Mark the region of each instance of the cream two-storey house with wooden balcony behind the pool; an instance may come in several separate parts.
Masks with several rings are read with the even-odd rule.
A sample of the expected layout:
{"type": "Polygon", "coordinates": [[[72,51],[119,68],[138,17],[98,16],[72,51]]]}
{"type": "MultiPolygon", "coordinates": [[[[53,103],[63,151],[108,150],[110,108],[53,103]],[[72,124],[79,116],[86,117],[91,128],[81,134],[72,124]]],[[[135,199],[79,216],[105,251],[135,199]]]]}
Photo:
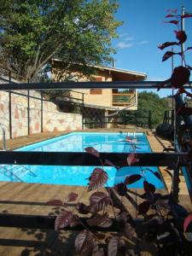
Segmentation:
{"type": "MultiPolygon", "coordinates": [[[[66,72],[62,72],[62,61],[52,60],[52,79],[61,81],[66,72]]],[[[71,79],[78,81],[143,81],[147,78],[146,73],[119,69],[116,67],[94,67],[95,73],[89,78],[79,75],[79,72],[73,72],[71,79]]],[[[108,123],[115,121],[115,114],[120,110],[137,110],[137,90],[122,89],[79,89],[84,94],[84,123],[99,124],[106,127],[108,123]]],[[[71,95],[75,98],[75,94],[71,95]]],[[[91,125],[86,125],[90,128],[91,125]]]]}

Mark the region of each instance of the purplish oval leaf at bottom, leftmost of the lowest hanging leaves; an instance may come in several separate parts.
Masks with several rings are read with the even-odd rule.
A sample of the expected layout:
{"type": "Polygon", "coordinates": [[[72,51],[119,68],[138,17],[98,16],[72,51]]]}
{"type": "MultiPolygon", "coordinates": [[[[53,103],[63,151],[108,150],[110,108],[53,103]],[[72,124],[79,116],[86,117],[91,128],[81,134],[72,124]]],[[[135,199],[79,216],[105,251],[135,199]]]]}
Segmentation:
{"type": "Polygon", "coordinates": [[[81,231],[75,238],[75,248],[78,254],[90,253],[93,247],[94,240],[89,230],[81,231]]]}

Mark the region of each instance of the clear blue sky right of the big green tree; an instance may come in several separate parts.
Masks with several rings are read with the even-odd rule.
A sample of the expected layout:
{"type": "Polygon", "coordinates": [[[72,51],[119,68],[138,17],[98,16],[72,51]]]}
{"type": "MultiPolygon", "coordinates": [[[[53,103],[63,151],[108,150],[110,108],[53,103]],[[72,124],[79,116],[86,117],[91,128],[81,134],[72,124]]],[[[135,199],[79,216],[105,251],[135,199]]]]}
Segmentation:
{"type": "MultiPolygon", "coordinates": [[[[160,50],[158,45],[165,42],[177,41],[174,30],[177,26],[164,21],[174,20],[165,18],[168,9],[177,9],[181,14],[182,6],[185,11],[192,13],[192,0],[119,0],[116,19],[124,22],[119,26],[119,38],[113,39],[116,49],[116,67],[147,73],[148,81],[169,79],[172,75],[172,60],[162,62],[162,56],[167,50],[160,50]]],[[[192,18],[184,19],[184,28],[188,36],[185,49],[192,46],[192,18]]],[[[174,47],[174,51],[179,48],[174,47]]],[[[192,66],[192,50],[186,55],[187,64],[192,66]]],[[[181,58],[176,55],[174,67],[181,65],[181,58]]],[[[156,92],[156,90],[153,90],[156,92]]],[[[172,90],[160,90],[160,96],[171,95],[172,90]]]]}

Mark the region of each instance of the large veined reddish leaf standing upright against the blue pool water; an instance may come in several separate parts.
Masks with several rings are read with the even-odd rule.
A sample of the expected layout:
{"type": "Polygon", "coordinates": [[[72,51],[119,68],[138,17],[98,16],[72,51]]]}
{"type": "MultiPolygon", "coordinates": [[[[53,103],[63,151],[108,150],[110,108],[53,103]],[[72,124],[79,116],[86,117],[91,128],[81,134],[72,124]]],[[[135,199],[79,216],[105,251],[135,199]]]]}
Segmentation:
{"type": "Polygon", "coordinates": [[[89,178],[88,191],[101,188],[108,181],[108,173],[101,168],[95,168],[89,178]]]}

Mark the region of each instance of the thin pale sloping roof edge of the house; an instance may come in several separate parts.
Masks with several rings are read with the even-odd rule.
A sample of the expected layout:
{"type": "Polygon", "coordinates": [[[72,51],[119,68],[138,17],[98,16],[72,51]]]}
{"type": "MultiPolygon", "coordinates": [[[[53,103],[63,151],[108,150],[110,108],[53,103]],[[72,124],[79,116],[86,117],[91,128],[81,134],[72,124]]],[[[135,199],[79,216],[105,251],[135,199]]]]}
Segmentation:
{"type": "MultiPolygon", "coordinates": [[[[52,59],[53,61],[61,61],[59,59],[52,59]]],[[[101,69],[101,70],[108,70],[113,73],[122,73],[125,75],[133,75],[137,77],[141,77],[142,79],[147,79],[147,74],[146,73],[141,73],[137,71],[132,71],[132,70],[127,70],[127,69],[122,69],[122,68],[117,68],[117,67],[105,67],[105,66],[93,66],[95,68],[101,69]]]]}

